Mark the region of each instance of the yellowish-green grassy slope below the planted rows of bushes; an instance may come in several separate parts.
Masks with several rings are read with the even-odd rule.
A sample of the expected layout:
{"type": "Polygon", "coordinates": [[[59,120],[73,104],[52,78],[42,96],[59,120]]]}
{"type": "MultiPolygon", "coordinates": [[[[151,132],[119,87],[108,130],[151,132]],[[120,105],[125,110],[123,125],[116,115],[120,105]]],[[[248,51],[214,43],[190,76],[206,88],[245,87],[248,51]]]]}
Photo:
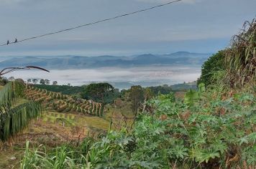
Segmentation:
{"type": "Polygon", "coordinates": [[[88,136],[96,138],[108,128],[109,121],[101,117],[44,111],[38,120],[32,121],[26,130],[12,140],[12,146],[4,145],[0,152],[0,168],[19,168],[27,140],[51,149],[64,143],[78,143],[78,140],[88,136]]]}

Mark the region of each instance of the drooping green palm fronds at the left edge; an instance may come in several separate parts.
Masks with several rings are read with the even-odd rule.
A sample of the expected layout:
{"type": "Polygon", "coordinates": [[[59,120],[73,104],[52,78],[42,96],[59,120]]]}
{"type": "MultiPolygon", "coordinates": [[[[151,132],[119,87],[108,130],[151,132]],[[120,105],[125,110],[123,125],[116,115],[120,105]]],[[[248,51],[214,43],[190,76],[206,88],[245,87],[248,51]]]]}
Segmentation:
{"type": "Polygon", "coordinates": [[[17,135],[30,120],[40,115],[41,108],[35,102],[17,103],[23,97],[24,84],[13,81],[0,90],[0,140],[5,142],[17,135]]]}

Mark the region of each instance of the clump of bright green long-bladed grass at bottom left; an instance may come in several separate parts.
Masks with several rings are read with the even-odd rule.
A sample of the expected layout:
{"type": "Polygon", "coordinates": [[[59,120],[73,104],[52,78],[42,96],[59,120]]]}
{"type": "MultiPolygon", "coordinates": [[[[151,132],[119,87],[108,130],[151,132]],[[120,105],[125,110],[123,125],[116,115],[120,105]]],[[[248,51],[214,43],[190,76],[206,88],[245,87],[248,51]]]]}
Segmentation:
{"type": "Polygon", "coordinates": [[[47,150],[44,145],[29,148],[29,142],[27,142],[20,168],[86,168],[90,165],[86,156],[88,156],[91,145],[93,145],[93,139],[86,138],[79,146],[67,144],[47,150]]]}

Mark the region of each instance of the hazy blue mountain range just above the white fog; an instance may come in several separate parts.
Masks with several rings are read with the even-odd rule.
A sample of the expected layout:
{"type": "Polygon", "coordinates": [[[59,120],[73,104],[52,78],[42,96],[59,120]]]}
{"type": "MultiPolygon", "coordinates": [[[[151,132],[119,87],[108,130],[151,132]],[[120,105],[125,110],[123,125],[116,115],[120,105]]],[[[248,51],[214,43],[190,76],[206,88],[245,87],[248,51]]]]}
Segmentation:
{"type": "Polygon", "coordinates": [[[58,57],[2,57],[0,68],[33,65],[47,69],[88,69],[99,67],[142,67],[150,65],[198,65],[211,54],[176,52],[173,54],[141,54],[131,57],[58,56],[58,57]]]}

